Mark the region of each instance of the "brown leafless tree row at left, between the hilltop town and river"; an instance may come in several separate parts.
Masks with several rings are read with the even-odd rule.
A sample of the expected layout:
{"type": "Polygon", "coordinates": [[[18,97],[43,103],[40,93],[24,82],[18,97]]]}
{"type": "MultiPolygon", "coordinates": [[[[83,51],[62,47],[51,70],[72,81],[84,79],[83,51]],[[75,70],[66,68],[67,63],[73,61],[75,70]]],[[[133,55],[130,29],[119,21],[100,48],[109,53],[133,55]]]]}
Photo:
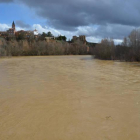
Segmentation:
{"type": "Polygon", "coordinates": [[[0,56],[38,55],[86,55],[87,46],[82,43],[65,41],[46,42],[45,40],[11,40],[0,38],[0,56]]]}

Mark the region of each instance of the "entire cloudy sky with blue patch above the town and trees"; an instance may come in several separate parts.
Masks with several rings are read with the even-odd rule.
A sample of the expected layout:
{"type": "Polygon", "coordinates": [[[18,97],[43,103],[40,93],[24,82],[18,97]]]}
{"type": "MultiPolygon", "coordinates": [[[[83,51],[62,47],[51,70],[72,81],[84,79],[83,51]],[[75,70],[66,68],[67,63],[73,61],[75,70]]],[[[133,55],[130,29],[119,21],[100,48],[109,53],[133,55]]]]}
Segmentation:
{"type": "Polygon", "coordinates": [[[140,0],[0,0],[0,30],[51,31],[55,36],[86,35],[120,42],[140,26],[140,0]]]}

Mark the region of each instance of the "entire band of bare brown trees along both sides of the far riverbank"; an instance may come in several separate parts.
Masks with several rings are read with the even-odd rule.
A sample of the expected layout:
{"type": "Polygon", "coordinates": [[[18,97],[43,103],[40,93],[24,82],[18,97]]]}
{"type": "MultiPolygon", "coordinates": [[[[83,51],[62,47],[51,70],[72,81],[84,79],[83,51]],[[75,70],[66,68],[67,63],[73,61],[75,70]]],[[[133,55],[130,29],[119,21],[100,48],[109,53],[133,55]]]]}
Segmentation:
{"type": "Polygon", "coordinates": [[[42,33],[38,39],[27,39],[23,34],[16,36],[16,39],[0,38],[0,56],[92,54],[103,60],[140,61],[140,29],[134,29],[120,45],[115,45],[110,38],[102,39],[96,45],[85,45],[82,42],[67,42],[66,37],[61,35],[54,42],[46,42],[46,37],[53,37],[51,32],[42,33]],[[90,45],[93,47],[89,47],[90,45]]]}

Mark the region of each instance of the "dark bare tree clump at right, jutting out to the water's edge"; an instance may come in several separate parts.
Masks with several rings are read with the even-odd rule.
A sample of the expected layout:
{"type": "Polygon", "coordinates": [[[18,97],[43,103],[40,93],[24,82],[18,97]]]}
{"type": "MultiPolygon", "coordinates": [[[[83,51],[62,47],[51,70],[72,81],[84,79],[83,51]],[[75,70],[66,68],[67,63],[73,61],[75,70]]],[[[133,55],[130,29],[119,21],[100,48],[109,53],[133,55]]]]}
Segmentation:
{"type": "Polygon", "coordinates": [[[102,39],[92,54],[103,60],[140,61],[140,29],[134,29],[122,44],[115,45],[113,39],[102,39]]]}

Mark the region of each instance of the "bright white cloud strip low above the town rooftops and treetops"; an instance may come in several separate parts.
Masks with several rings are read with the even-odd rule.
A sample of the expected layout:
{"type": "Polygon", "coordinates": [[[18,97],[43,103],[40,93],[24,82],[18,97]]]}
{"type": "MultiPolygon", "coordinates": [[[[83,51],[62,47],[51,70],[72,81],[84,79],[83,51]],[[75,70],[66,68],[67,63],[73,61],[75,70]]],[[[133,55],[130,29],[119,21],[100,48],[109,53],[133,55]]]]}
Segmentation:
{"type": "MultiPolygon", "coordinates": [[[[6,31],[9,28],[11,28],[11,26],[7,25],[7,24],[0,24],[0,31],[6,31]]],[[[29,30],[29,28],[22,28],[19,27],[18,25],[16,25],[16,30],[29,30]]],[[[32,26],[30,26],[30,30],[34,30],[37,29],[38,32],[41,34],[42,32],[49,32],[51,31],[51,33],[54,36],[58,36],[58,35],[65,35],[67,37],[67,40],[71,39],[74,35],[86,35],[86,40],[89,42],[95,42],[95,43],[99,43],[102,39],[102,34],[100,36],[96,36],[96,32],[98,32],[100,30],[100,28],[98,29],[98,27],[79,27],[77,29],[77,31],[64,31],[64,30],[56,30],[55,28],[51,28],[48,26],[41,26],[40,24],[34,24],[32,26]]],[[[122,42],[121,39],[114,39],[116,44],[120,44],[122,42]]]]}

